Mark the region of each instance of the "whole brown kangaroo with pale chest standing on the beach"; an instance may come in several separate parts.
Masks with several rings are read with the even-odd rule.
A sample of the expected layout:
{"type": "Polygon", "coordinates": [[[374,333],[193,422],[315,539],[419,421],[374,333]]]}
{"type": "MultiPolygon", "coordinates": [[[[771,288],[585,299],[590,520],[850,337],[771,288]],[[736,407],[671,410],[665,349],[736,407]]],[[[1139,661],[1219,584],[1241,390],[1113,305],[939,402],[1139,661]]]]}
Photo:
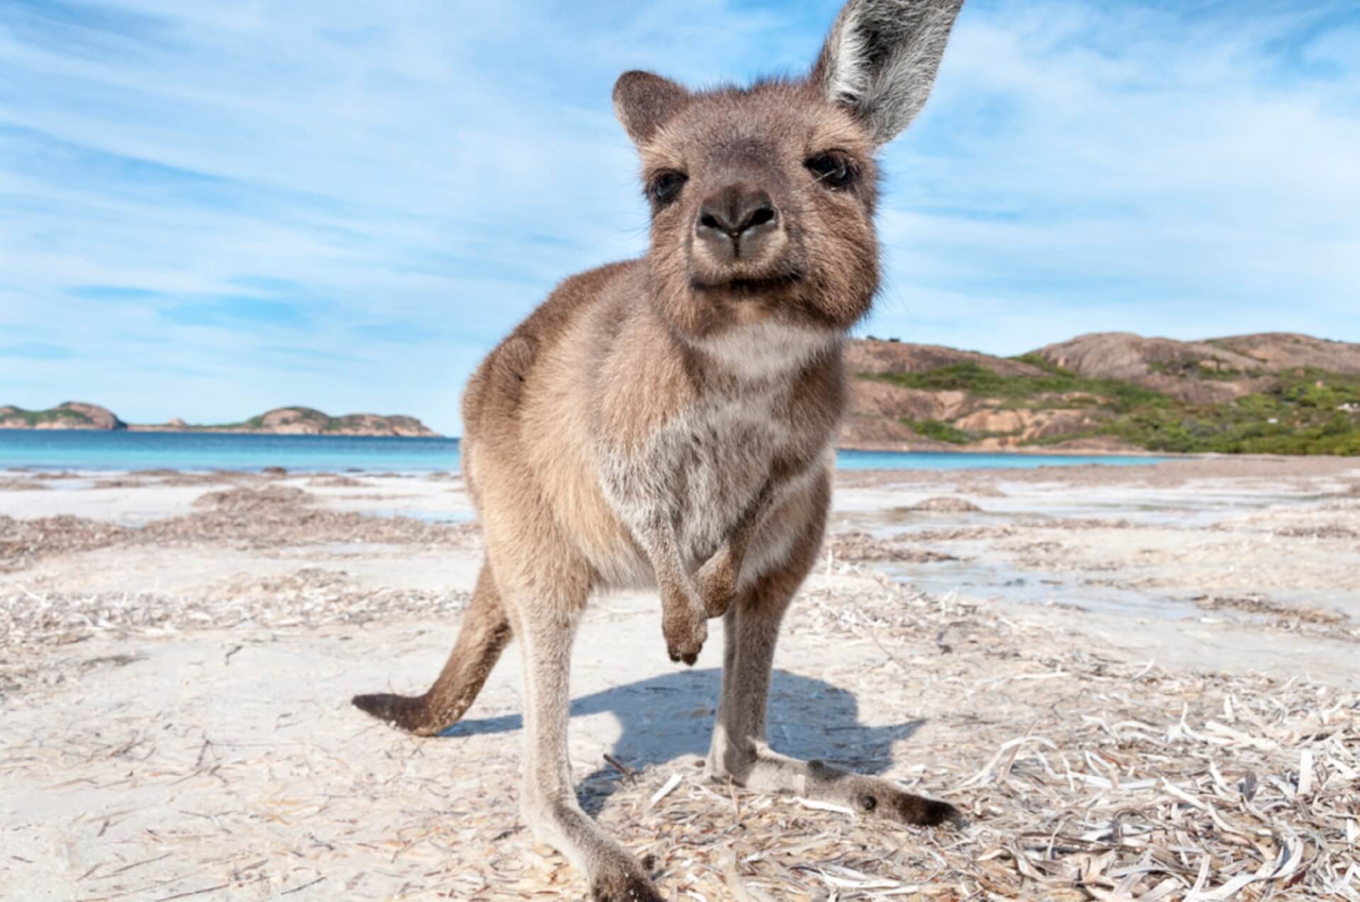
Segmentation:
{"type": "Polygon", "coordinates": [[[724,618],[706,773],[913,825],[959,812],[766,743],[779,624],[821,545],[842,346],[879,288],[876,149],[926,102],[963,0],[850,0],[811,73],[613,88],[651,208],[647,254],[562,283],[462,401],[486,560],[423,696],[354,704],[416,735],[457,721],[509,644],[524,656],[521,808],[598,902],[660,902],[577,801],[571,647],[597,591],[656,587],[673,660],[724,618]]]}

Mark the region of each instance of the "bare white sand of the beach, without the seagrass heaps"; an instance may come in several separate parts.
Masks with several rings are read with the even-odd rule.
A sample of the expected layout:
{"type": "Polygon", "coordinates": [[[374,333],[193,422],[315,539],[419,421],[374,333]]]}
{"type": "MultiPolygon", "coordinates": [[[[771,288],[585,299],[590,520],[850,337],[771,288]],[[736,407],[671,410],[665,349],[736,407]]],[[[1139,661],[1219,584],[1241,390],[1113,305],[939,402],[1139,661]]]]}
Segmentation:
{"type": "MultiPolygon", "coordinates": [[[[1360,689],[1360,632],[1346,617],[1360,617],[1360,494],[1350,493],[1360,463],[1297,467],[1273,481],[1234,475],[1231,467],[1175,485],[1149,473],[843,480],[836,530],[923,534],[917,547],[967,557],[896,572],[932,591],[953,590],[956,599],[975,603],[964,610],[985,615],[926,625],[919,614],[915,632],[908,617],[896,632],[838,626],[828,638],[827,624],[839,622],[828,617],[851,622],[858,607],[888,598],[864,569],[832,561],[809,579],[808,599],[781,644],[771,742],[945,793],[985,763],[991,747],[983,740],[1021,735],[1061,705],[1080,704],[1085,690],[1062,679],[1061,664],[1055,679],[1015,682],[1015,674],[1053,670],[1044,662],[1064,655],[1096,655],[1110,667],[1138,670],[1155,659],[1170,675],[1265,671],[1315,681],[1319,693],[1360,689]],[[952,494],[982,512],[900,509],[952,494]],[[947,538],[959,527],[1012,531],[947,538]],[[1008,592],[1004,581],[1013,579],[1025,583],[1008,592]],[[1083,592],[1102,590],[1146,605],[1134,615],[1119,607],[1119,595],[1088,605],[1092,610],[1070,606],[1083,592]],[[1046,600],[1046,591],[1059,603],[1024,603],[1046,600]],[[1200,595],[1253,595],[1285,613],[1201,610],[1190,600],[1200,595]],[[1337,613],[1321,619],[1291,613],[1300,607],[1337,613]],[[1032,638],[1015,645],[1006,636],[1032,638]],[[945,645],[955,651],[941,656],[945,645]],[[993,647],[1012,651],[989,652],[993,647]]],[[[471,511],[460,482],[359,478],[367,485],[317,488],[307,477],[275,485],[306,488],[320,507],[336,511],[453,522],[471,511]]],[[[190,512],[212,488],[3,492],[0,512],[141,524],[190,512]]],[[[0,596],[11,606],[42,599],[79,606],[82,596],[128,596],[135,605],[139,592],[162,603],[243,598],[268,605],[272,583],[260,588],[260,581],[299,571],[313,576],[277,592],[466,590],[476,565],[475,547],[403,542],[120,545],[0,573],[0,596]],[[330,575],[333,585],[317,583],[316,572],[330,575]]],[[[443,663],[456,617],[431,621],[398,611],[363,625],[316,622],[322,625],[181,624],[173,632],[162,625],[148,634],[101,626],[95,615],[88,628],[72,628],[69,638],[78,641],[7,648],[7,670],[0,670],[0,887],[7,888],[0,895],[577,898],[578,878],[558,856],[536,849],[517,818],[517,648],[450,736],[420,740],[366,719],[348,698],[385,687],[422,690],[443,663]]],[[[626,781],[604,755],[661,776],[692,773],[715,701],[721,628],[713,633],[688,670],[666,660],[657,605],[647,595],[600,599],[582,629],[573,765],[586,799],[602,806],[601,818],[632,825],[631,844],[651,842],[649,830],[661,827],[649,827],[630,807],[630,792],[619,787],[626,781]]],[[[1174,721],[1178,712],[1161,713],[1174,721]]],[[[643,789],[636,793],[649,795],[643,789]]],[[[835,823],[828,829],[860,829],[835,823]]],[[[699,868],[690,878],[668,873],[662,883],[699,891],[707,879],[699,868]]],[[[870,895],[846,891],[842,898],[870,895]]]]}

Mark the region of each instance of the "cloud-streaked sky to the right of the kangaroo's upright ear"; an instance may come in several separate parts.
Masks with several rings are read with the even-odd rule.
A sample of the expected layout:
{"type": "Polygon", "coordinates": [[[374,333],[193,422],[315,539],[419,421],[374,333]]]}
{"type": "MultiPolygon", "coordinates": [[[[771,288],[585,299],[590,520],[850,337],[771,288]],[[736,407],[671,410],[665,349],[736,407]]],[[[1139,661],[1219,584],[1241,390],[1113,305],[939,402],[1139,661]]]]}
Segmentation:
{"type": "Polygon", "coordinates": [[[1006,352],[1111,329],[1360,338],[1360,56],[1334,46],[1353,7],[970,11],[887,155],[876,327],[1006,352]]]}

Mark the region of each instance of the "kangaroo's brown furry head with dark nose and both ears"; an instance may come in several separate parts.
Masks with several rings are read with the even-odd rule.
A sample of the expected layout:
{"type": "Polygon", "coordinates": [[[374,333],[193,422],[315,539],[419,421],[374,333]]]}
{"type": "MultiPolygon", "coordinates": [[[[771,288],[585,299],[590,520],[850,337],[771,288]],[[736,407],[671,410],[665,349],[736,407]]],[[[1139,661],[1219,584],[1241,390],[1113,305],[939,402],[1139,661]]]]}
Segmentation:
{"type": "Polygon", "coordinates": [[[619,79],[651,205],[654,300],[677,334],[703,344],[767,323],[834,337],[868,312],[874,151],[925,105],[962,4],[850,0],[801,80],[619,79]]]}

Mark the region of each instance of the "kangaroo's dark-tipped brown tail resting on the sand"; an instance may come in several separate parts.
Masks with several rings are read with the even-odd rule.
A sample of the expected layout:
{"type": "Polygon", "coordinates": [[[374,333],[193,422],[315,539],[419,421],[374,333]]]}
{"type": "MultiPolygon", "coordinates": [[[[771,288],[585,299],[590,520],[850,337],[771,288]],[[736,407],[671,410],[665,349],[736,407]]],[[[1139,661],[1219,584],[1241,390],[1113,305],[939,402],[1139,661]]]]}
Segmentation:
{"type": "Polygon", "coordinates": [[[491,566],[483,564],[458,640],[434,686],[423,696],[355,696],[354,705],[418,736],[443,732],[472,706],[510,636],[510,619],[491,566]]]}

